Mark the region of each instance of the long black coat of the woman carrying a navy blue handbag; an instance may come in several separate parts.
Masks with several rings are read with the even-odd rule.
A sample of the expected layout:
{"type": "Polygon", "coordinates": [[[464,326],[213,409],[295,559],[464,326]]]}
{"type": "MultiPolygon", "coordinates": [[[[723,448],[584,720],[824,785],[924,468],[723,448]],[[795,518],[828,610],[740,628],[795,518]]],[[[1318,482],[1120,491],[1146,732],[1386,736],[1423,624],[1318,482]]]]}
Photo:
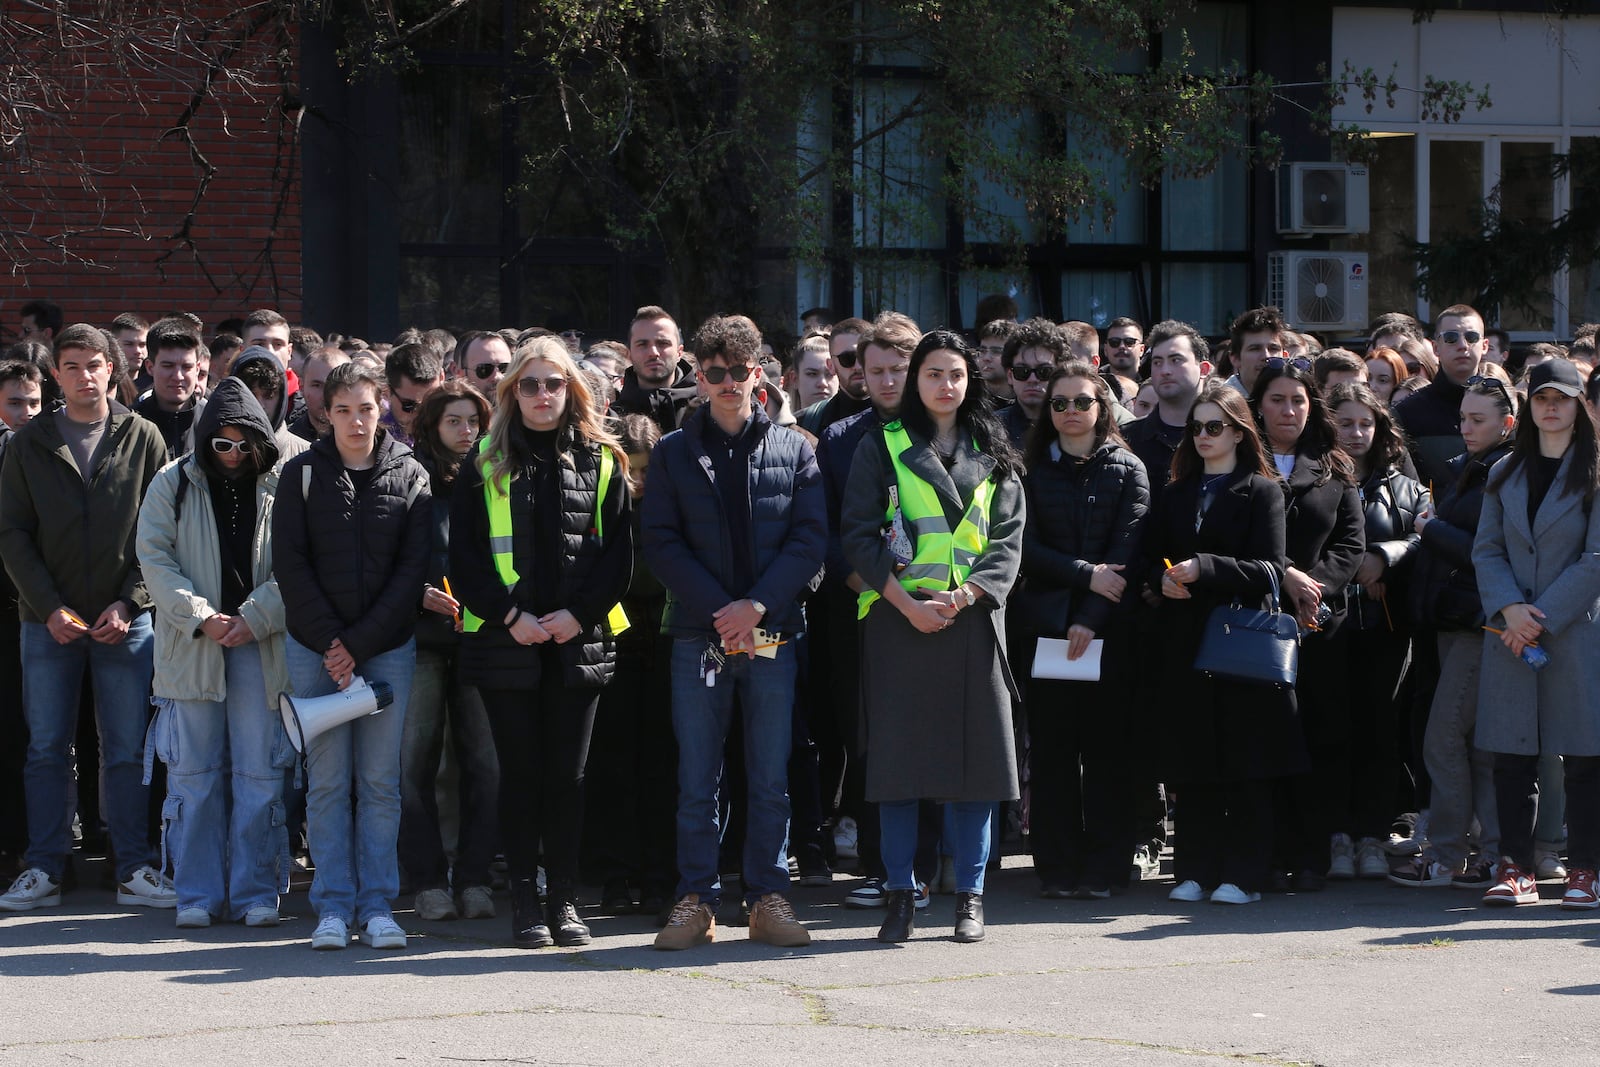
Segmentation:
{"type": "Polygon", "coordinates": [[[1309,768],[1294,691],[1210,678],[1194,669],[1205,621],[1238,600],[1272,595],[1269,571],[1283,576],[1283,488],[1277,478],[1235,470],[1200,528],[1200,480],[1170,482],[1146,530],[1146,581],[1162,589],[1163,560],[1195,560],[1189,600],[1162,597],[1155,609],[1155,733],[1165,781],[1226,782],[1285,777],[1309,768]]]}

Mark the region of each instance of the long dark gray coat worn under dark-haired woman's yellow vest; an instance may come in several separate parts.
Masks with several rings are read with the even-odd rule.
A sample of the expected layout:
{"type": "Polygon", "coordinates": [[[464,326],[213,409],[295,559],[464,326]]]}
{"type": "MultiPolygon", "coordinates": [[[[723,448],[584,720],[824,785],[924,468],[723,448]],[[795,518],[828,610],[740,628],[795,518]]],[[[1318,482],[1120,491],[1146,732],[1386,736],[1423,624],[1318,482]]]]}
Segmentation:
{"type": "MultiPolygon", "coordinates": [[[[939,494],[950,528],[995,461],[965,445],[947,472],[928,442],[912,437],[906,466],[939,494]]],[[[845,488],[840,541],[869,589],[883,589],[893,561],[880,530],[894,469],[874,427],[856,450],[845,488]]],[[[1018,478],[995,485],[989,547],[968,581],[989,595],[955,624],[922,633],[888,601],[862,622],[861,694],[867,731],[867,800],[1014,800],[1018,790],[1005,656],[1005,603],[1022,560],[1026,504],[1018,478]]]]}

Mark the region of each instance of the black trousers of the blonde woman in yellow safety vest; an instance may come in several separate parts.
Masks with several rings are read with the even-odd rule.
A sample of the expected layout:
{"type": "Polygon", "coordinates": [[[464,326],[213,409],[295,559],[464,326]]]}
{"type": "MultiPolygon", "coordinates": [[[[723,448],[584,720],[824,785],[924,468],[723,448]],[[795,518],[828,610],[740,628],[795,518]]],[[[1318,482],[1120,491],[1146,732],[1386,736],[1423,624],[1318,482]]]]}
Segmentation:
{"type": "Polygon", "coordinates": [[[533,878],[544,841],[550,899],[574,899],[584,825],[584,768],[600,689],[568,688],[560,651],[541,649],[536,691],[483,689],[501,761],[501,838],[510,877],[533,878]]]}

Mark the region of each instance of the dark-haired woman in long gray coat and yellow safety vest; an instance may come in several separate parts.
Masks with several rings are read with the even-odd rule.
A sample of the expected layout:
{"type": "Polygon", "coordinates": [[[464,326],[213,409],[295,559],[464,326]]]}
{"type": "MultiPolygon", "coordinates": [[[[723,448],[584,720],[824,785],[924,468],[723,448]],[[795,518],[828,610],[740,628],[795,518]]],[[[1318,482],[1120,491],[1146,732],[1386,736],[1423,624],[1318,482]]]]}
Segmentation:
{"type": "Polygon", "coordinates": [[[901,421],[869,432],[845,488],[840,539],[861,595],[867,800],[880,806],[888,915],[906,941],[917,801],[955,814],[955,939],[984,936],[989,811],[1018,797],[1005,598],[1022,552],[1021,462],[955,333],[917,344],[901,421]]]}

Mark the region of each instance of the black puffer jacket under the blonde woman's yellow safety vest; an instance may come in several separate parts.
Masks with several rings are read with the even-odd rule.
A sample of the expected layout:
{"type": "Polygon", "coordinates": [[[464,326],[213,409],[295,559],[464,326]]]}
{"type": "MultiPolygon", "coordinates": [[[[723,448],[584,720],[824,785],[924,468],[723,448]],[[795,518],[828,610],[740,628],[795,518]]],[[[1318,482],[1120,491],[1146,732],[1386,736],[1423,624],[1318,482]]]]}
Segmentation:
{"type": "MultiPolygon", "coordinates": [[[[490,517],[483,496],[483,470],[477,456],[464,462],[456,475],[456,494],[450,512],[450,573],[456,595],[483,619],[482,629],[462,635],[461,677],[485,689],[533,689],[542,673],[541,646],[518,645],[506,625],[512,608],[534,616],[565,608],[573,613],[582,635],[560,646],[565,683],[598,688],[611,680],[616,664],[616,641],[606,624],[606,613],[627,592],[634,569],[632,498],[621,466],[614,467],[606,488],[602,541],[595,528],[595,490],[600,483],[600,448],[563,442],[555,459],[555,482],[560,485],[562,558],[554,582],[555,601],[539,603],[538,565],[534,561],[534,525],[539,507],[534,501],[538,477],[528,466],[520,432],[514,429],[514,448],[523,459],[522,470],[510,482],[512,565],[517,585],[507,590],[494,569],[490,552],[490,517]]],[[[546,512],[552,514],[552,512],[546,512]]]]}

